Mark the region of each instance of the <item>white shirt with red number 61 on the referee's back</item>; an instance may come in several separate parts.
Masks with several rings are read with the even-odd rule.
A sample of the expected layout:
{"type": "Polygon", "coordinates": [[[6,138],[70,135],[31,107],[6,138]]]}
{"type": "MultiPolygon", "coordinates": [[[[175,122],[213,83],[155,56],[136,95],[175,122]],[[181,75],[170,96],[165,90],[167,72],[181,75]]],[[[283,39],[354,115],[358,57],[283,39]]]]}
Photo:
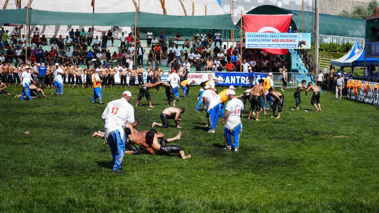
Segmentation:
{"type": "Polygon", "coordinates": [[[225,127],[233,130],[238,124],[241,123],[241,111],[243,110],[243,103],[236,97],[226,104],[226,110],[229,111],[229,116],[225,122],[225,127]]]}

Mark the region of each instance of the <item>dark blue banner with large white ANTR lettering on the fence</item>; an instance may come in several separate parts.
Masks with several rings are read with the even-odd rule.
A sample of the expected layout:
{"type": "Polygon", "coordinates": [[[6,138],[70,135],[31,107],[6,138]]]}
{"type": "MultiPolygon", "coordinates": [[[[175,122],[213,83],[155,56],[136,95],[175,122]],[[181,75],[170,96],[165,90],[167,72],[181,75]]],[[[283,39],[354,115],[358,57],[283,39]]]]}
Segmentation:
{"type": "MultiPolygon", "coordinates": [[[[259,80],[265,78],[267,73],[255,72],[255,81],[252,83],[256,85],[259,80]]],[[[247,72],[215,72],[217,78],[216,85],[218,86],[249,86],[249,73],[247,72]]]]}

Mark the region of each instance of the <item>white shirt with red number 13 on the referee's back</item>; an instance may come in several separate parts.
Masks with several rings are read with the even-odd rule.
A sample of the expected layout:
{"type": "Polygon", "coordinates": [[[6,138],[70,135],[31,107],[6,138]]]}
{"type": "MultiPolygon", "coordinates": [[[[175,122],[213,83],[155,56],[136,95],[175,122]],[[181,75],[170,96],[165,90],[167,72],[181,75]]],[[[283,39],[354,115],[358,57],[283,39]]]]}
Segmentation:
{"type": "Polygon", "coordinates": [[[102,118],[105,119],[105,135],[117,130],[124,129],[125,125],[133,124],[134,108],[125,99],[113,100],[106,105],[102,118]]]}

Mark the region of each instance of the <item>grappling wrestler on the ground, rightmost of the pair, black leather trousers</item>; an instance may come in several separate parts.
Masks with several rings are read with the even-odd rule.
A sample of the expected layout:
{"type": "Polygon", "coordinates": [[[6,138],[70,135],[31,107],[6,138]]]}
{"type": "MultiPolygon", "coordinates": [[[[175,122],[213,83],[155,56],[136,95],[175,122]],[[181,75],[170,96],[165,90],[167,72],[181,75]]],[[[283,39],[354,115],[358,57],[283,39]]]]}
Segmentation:
{"type": "Polygon", "coordinates": [[[182,133],[179,131],[179,134],[175,136],[175,138],[165,139],[162,133],[152,129],[146,133],[146,143],[149,145],[149,148],[153,150],[155,155],[171,155],[171,153],[179,153],[182,159],[191,158],[191,155],[185,155],[183,147],[167,145],[174,140],[179,140],[181,135],[182,133]],[[158,139],[160,139],[160,143],[158,143],[158,139]]]}

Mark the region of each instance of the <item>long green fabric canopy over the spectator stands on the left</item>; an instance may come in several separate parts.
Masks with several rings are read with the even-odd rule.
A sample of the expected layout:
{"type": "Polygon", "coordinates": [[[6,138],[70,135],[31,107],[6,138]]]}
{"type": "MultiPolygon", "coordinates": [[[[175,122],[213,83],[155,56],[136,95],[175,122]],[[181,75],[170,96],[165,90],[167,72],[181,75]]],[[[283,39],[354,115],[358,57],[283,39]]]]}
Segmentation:
{"type": "MultiPolygon", "coordinates": [[[[0,10],[2,23],[26,23],[27,9],[0,10]]],[[[30,25],[88,25],[132,27],[135,24],[135,12],[127,13],[69,13],[29,9],[30,25]],[[122,17],[122,18],[121,18],[122,17]]],[[[167,35],[180,32],[182,36],[191,36],[195,30],[201,34],[220,30],[222,37],[229,37],[230,30],[236,29],[230,14],[217,16],[169,16],[137,12],[137,27],[142,32],[151,28],[160,34],[166,28],[167,35]],[[195,29],[195,30],[194,30],[195,29]]]]}

